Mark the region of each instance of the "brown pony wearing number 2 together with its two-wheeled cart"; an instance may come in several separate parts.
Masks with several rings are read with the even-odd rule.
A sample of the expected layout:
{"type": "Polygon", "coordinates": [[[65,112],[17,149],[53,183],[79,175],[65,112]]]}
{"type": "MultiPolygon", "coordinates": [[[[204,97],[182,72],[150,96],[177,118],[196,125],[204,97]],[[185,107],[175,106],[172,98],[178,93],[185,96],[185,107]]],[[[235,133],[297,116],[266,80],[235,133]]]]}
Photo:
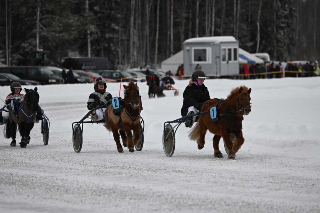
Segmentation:
{"type": "Polygon", "coordinates": [[[80,121],[72,123],[72,143],[75,152],[80,152],[83,142],[83,124],[103,124],[107,130],[112,131],[119,153],[124,152],[120,144],[120,135],[124,147],[130,152],[141,151],[144,142],[144,121],[140,116],[142,110],[139,87],[134,82],[124,85],[124,99],[114,97],[106,104],[90,110],[80,121]],[[92,112],[100,108],[105,110],[104,118],[99,121],[90,119],[92,112]]]}

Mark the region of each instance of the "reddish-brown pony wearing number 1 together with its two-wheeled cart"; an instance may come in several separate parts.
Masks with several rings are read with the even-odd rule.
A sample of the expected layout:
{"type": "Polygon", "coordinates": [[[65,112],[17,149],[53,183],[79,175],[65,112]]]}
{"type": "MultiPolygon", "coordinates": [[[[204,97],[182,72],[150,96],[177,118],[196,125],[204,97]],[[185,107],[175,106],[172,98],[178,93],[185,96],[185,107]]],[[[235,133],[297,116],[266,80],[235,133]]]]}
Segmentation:
{"type": "Polygon", "coordinates": [[[196,116],[194,127],[188,136],[190,140],[197,141],[198,149],[204,148],[204,137],[209,130],[214,134],[214,157],[223,157],[219,150],[219,141],[222,137],[228,158],[235,158],[236,152],[244,143],[242,120],[243,116],[251,111],[250,92],[251,88],[237,87],[231,91],[227,99],[214,98],[204,102],[196,114],[164,122],[162,145],[165,155],[170,157],[174,153],[175,133],[178,127],[187,119],[196,116]],[[172,123],[176,125],[172,126],[172,123]]]}

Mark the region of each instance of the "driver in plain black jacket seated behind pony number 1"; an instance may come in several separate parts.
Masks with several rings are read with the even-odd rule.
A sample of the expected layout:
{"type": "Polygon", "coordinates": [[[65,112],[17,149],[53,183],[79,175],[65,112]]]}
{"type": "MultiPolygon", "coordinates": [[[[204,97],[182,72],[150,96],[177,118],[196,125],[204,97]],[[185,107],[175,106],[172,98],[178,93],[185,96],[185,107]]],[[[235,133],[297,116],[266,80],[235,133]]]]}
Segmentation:
{"type": "MultiPolygon", "coordinates": [[[[202,70],[196,70],[192,73],[192,79],[183,92],[182,117],[198,113],[201,110],[202,104],[210,99],[208,88],[203,84],[206,78],[202,70]]],[[[195,120],[196,116],[187,118],[185,122],[186,127],[192,127],[195,120]]]]}

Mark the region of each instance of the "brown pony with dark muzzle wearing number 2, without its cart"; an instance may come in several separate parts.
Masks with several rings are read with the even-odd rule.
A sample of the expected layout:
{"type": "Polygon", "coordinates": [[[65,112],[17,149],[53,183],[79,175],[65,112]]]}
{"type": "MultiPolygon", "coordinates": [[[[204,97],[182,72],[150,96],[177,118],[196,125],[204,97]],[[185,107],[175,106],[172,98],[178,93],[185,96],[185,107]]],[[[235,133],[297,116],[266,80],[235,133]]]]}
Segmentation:
{"type": "Polygon", "coordinates": [[[139,95],[139,87],[133,81],[129,80],[128,86],[124,87],[124,99],[122,99],[122,111],[113,113],[113,106],[109,105],[105,112],[104,125],[107,130],[112,131],[113,138],[116,141],[118,152],[122,153],[123,148],[120,144],[120,135],[124,147],[128,146],[130,152],[134,152],[134,145],[137,145],[140,139],[140,112],[141,112],[141,96],[139,95]],[[119,132],[118,132],[119,130],[119,132]],[[132,132],[133,130],[133,136],[132,132]],[[120,135],[119,135],[120,133],[120,135]]]}

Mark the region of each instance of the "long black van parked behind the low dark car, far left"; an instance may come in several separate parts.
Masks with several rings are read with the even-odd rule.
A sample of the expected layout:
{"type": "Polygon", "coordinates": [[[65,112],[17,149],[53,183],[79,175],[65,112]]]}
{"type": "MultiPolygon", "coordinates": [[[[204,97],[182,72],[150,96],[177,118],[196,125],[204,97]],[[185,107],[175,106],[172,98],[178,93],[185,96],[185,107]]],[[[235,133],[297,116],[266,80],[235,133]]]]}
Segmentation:
{"type": "Polygon", "coordinates": [[[21,79],[35,80],[40,84],[63,84],[64,80],[56,76],[44,66],[6,66],[0,67],[0,72],[12,73],[21,79]]]}

